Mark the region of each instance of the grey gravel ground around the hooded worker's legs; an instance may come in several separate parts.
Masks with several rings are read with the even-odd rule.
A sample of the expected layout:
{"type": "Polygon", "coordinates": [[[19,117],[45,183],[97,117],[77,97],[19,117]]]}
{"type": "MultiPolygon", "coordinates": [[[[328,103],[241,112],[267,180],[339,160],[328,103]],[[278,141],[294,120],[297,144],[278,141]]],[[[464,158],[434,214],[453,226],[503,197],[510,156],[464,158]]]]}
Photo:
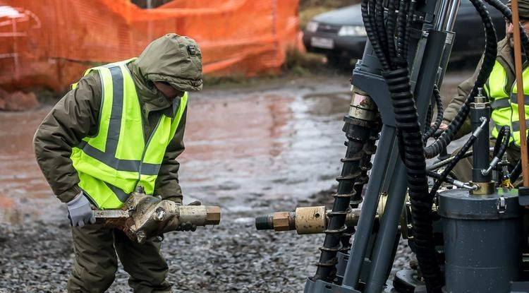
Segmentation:
{"type": "MultiPolygon", "coordinates": [[[[301,292],[323,237],[257,232],[253,217],[235,213],[218,227],[167,234],[162,251],[174,292],[301,292]]],[[[393,272],[409,255],[401,241],[393,272]]],[[[63,292],[72,260],[67,222],[0,225],[0,292],[63,292]]],[[[129,292],[127,278],[120,267],[109,292],[129,292]]]]}

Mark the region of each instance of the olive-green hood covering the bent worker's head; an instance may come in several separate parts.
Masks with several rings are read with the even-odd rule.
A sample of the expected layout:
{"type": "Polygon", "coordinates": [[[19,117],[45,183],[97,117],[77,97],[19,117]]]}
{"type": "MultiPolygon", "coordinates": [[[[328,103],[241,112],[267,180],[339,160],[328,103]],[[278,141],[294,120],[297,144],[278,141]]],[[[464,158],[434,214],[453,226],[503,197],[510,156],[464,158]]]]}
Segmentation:
{"type": "Polygon", "coordinates": [[[165,81],[177,90],[202,90],[202,53],[195,40],[174,33],[151,42],[131,64],[143,102],[155,108],[169,107],[154,81],[165,81]]]}

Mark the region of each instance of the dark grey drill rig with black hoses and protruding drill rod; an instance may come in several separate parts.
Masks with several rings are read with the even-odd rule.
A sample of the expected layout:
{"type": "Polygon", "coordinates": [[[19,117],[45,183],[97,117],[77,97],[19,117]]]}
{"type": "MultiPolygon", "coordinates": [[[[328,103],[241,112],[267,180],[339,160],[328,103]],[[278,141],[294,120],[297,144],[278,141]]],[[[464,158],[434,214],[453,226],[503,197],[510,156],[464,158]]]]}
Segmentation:
{"type": "MultiPolygon", "coordinates": [[[[482,94],[497,56],[487,9],[498,9],[510,21],[514,14],[518,23],[517,11],[511,13],[501,1],[485,0],[486,6],[483,0],[470,0],[485,31],[478,78],[454,121],[427,145],[442,121],[439,88],[460,1],[362,1],[369,40],[352,73],[353,97],[343,126],[347,150],[332,208],[297,208],[256,218],[257,229],[325,234],[305,293],[529,292],[523,261],[527,189],[509,184],[520,172],[509,174],[504,164],[511,141],[508,126],[499,131],[490,160],[491,106],[482,94]],[[438,116],[430,126],[435,105],[438,116]],[[446,152],[469,115],[473,133],[463,148],[437,163],[441,171],[427,168],[425,160],[446,152]],[[470,147],[473,180],[449,178],[470,147]],[[427,177],[434,179],[433,186],[427,177]],[[459,188],[439,191],[446,182],[459,188]],[[418,268],[401,270],[389,282],[401,237],[408,239],[418,268]]],[[[515,46],[529,53],[528,37],[520,30],[521,45],[515,40],[515,46]]],[[[521,132],[525,143],[525,127],[521,132]]],[[[523,147],[522,153],[527,151],[523,147]]]]}

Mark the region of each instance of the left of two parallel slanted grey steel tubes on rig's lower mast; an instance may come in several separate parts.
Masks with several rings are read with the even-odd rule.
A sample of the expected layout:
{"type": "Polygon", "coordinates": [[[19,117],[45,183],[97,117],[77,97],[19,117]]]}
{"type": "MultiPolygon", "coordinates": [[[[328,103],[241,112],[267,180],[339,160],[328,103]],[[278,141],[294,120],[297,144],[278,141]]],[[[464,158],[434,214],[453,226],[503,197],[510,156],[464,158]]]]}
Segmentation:
{"type": "Polygon", "coordinates": [[[382,183],[384,181],[387,164],[392,153],[392,146],[394,144],[396,128],[392,126],[382,126],[380,133],[379,148],[375,161],[373,162],[373,170],[370,181],[367,184],[365,191],[364,202],[362,205],[362,213],[358,219],[358,225],[353,239],[353,246],[349,251],[349,261],[347,263],[346,273],[343,276],[343,285],[349,287],[356,287],[358,285],[358,278],[367,251],[370,234],[375,222],[375,215],[377,214],[377,206],[379,201],[382,183]]]}

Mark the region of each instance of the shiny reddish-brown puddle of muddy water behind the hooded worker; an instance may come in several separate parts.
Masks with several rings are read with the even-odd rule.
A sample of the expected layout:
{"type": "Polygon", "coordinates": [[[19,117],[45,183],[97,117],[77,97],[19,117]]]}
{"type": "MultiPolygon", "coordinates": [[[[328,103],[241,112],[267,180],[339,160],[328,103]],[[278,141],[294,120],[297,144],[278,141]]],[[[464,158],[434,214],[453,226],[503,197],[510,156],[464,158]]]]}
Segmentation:
{"type": "MultiPolygon", "coordinates": [[[[253,201],[306,198],[329,188],[345,151],[349,97],[342,87],[332,95],[286,88],[192,98],[179,157],[184,196],[236,212],[252,209],[253,201]]],[[[48,111],[0,113],[0,222],[66,217],[32,150],[48,111]]]]}

